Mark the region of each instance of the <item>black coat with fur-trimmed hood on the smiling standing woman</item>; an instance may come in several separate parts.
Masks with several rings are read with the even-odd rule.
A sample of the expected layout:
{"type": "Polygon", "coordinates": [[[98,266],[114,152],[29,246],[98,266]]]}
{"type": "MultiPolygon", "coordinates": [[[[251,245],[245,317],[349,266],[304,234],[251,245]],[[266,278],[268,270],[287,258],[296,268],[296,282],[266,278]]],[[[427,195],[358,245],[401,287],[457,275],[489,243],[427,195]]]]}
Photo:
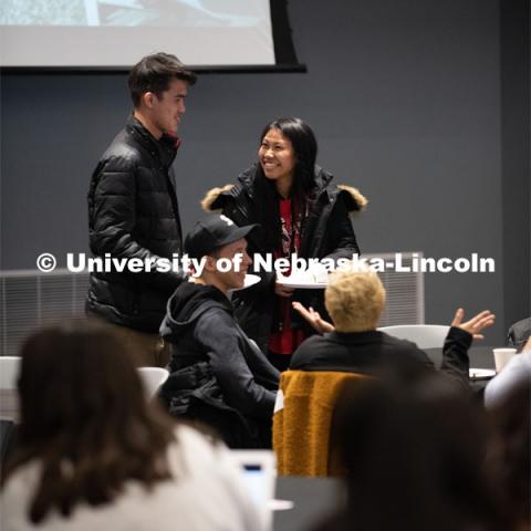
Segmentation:
{"type": "MultiPolygon", "coordinates": [[[[260,176],[258,164],[252,165],[238,177],[236,185],[211,189],[201,206],[207,211],[221,211],[237,225],[260,223],[248,236],[248,252],[252,256],[273,252],[280,246],[280,212],[278,194],[270,181],[260,176]]],[[[299,257],[309,258],[352,258],[360,253],[356,236],[350,215],[362,210],[367,199],[355,188],[335,186],[333,176],[315,166],[315,186],[312,207],[302,226],[299,257]]],[[[263,352],[268,351],[275,315],[274,272],[259,272],[261,282],[235,293],[236,316],[242,329],[263,352]]],[[[311,305],[326,316],[321,290],[296,290],[294,301],[311,305]]],[[[306,333],[312,329],[295,312],[293,326],[302,326],[306,333]]]]}

